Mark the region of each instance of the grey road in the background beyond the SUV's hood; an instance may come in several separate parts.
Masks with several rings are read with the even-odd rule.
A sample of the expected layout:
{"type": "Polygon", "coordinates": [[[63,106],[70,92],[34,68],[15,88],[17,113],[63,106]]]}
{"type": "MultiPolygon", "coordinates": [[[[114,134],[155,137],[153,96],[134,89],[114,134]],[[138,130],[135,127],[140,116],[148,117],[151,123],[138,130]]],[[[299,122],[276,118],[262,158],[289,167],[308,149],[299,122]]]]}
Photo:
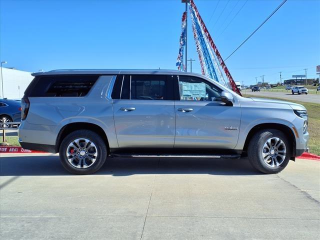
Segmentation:
{"type": "Polygon", "coordinates": [[[246,94],[254,95],[256,97],[269,96],[269,97],[279,97],[287,100],[296,100],[304,102],[315,102],[320,103],[320,93],[319,94],[294,94],[289,92],[276,92],[276,91],[243,91],[246,94]]]}

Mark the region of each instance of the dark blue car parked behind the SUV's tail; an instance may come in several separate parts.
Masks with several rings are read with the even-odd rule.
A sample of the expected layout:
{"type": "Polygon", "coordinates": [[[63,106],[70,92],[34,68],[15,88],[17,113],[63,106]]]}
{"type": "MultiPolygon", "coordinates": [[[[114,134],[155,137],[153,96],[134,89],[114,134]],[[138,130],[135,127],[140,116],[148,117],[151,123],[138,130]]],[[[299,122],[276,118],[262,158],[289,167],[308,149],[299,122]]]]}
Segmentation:
{"type": "Polygon", "coordinates": [[[6,98],[0,99],[0,127],[9,127],[6,122],[21,120],[21,103],[6,98]]]}

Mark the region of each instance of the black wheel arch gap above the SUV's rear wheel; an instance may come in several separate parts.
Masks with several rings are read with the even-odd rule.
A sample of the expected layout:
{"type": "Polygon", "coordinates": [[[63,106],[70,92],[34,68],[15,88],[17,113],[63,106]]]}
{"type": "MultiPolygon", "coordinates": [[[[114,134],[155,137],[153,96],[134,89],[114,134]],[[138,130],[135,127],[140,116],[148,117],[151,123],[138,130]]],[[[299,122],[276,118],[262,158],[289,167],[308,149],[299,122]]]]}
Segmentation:
{"type": "Polygon", "coordinates": [[[105,131],[102,129],[101,126],[94,124],[94,123],[90,123],[90,122],[71,122],[71,123],[64,125],[59,130],[59,133],[57,134],[57,137],[55,140],[55,152],[59,151],[61,141],[63,140],[63,138],[67,134],[69,134],[72,131],[80,130],[80,129],[91,130],[91,131],[94,131],[95,133],[97,133],[98,135],[100,135],[102,137],[102,139],[104,140],[107,149],[109,149],[108,138],[106,136],[105,131]]]}

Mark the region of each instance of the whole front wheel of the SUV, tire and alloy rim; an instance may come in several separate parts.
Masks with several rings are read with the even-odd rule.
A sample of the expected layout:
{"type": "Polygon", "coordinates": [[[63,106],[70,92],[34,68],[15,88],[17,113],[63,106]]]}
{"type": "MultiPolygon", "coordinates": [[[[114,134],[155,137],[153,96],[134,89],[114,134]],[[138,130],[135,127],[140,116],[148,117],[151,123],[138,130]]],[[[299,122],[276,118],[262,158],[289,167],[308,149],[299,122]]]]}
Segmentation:
{"type": "Polygon", "coordinates": [[[278,173],[288,164],[291,154],[283,132],[264,129],[255,133],[248,145],[248,159],[251,165],[264,173],[278,173]]]}

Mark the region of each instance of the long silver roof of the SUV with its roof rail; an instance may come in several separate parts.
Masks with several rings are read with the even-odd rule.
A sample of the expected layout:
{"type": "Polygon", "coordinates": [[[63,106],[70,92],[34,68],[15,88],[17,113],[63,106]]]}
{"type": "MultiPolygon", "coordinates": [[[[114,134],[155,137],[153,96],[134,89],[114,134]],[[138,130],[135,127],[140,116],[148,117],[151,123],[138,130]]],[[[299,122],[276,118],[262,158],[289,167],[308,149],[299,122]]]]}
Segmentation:
{"type": "Polygon", "coordinates": [[[60,75],[60,74],[181,74],[189,73],[169,69],[55,69],[46,72],[34,72],[32,76],[38,75],[60,75]]]}

